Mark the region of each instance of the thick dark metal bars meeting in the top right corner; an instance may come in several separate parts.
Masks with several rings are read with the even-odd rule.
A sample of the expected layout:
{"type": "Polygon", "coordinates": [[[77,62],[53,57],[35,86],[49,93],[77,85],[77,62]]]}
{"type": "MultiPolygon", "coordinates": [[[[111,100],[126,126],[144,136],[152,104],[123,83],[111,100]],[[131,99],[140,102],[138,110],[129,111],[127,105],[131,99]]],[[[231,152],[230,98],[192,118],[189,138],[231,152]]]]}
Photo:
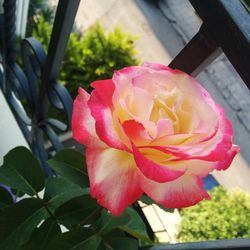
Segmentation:
{"type": "Polygon", "coordinates": [[[170,63],[196,76],[224,52],[250,89],[250,14],[240,1],[190,0],[203,24],[170,63]]]}

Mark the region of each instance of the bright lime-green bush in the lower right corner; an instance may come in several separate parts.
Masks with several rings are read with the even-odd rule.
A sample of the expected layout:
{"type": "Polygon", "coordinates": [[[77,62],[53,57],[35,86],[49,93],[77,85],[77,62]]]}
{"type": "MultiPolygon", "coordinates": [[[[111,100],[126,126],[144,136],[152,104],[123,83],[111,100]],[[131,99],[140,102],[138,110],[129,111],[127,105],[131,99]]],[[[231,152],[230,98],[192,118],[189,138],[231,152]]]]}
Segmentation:
{"type": "Polygon", "coordinates": [[[217,187],[211,197],[181,210],[179,241],[250,237],[250,195],[217,187]]]}

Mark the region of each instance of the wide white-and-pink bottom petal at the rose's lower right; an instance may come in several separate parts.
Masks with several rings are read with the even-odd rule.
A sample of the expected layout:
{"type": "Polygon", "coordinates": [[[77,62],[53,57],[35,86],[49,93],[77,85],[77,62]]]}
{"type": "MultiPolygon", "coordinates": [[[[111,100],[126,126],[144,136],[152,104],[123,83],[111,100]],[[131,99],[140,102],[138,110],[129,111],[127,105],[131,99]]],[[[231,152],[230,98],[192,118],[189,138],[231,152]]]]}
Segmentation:
{"type": "Polygon", "coordinates": [[[203,188],[202,179],[188,174],[166,183],[157,183],[142,176],[141,187],[150,198],[166,208],[188,207],[210,198],[203,188]]]}

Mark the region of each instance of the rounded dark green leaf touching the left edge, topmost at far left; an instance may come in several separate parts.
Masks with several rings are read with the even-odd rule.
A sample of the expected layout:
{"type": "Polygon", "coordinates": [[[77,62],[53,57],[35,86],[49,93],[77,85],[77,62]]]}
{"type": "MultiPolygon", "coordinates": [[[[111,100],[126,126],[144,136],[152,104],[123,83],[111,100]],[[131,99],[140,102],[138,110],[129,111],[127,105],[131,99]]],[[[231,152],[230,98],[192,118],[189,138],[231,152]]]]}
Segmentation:
{"type": "Polygon", "coordinates": [[[25,147],[16,147],[4,157],[0,183],[35,195],[44,188],[45,177],[35,156],[25,147]]]}

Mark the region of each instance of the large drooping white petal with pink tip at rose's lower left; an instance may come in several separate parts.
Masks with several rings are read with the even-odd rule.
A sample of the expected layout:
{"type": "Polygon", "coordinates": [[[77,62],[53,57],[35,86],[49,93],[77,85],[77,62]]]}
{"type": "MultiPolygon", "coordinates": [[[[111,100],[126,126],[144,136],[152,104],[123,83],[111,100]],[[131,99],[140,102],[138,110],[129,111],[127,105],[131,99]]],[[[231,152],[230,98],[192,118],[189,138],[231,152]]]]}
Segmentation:
{"type": "Polygon", "coordinates": [[[132,155],[116,149],[87,149],[90,192],[114,215],[136,201],[142,190],[132,155]]]}

